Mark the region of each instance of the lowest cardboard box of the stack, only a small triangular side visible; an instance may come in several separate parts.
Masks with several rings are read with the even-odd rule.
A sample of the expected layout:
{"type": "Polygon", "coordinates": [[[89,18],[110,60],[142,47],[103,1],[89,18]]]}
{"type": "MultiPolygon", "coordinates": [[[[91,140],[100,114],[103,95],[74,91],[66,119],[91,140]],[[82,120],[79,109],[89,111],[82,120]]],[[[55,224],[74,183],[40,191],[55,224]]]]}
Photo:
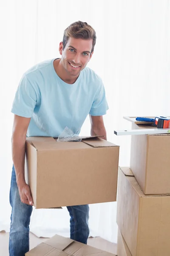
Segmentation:
{"type": "Polygon", "coordinates": [[[129,248],[123,238],[120,230],[118,229],[118,236],[117,236],[117,255],[118,256],[132,256],[130,253],[129,248]]]}

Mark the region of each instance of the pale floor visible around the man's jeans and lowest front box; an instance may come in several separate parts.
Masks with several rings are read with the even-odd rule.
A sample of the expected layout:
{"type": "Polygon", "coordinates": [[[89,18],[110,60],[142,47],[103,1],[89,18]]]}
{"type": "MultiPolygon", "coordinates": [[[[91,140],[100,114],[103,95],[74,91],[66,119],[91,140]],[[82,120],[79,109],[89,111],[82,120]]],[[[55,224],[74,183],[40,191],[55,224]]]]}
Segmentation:
{"type": "MultiPolygon", "coordinates": [[[[9,256],[8,253],[8,239],[9,233],[0,232],[0,256],[9,256]]],[[[30,250],[36,247],[38,244],[47,240],[46,238],[38,238],[34,234],[30,233],[30,250]]],[[[101,250],[108,251],[110,253],[116,254],[117,244],[113,244],[109,241],[106,241],[100,237],[90,237],[88,239],[88,245],[99,248],[101,250]]]]}

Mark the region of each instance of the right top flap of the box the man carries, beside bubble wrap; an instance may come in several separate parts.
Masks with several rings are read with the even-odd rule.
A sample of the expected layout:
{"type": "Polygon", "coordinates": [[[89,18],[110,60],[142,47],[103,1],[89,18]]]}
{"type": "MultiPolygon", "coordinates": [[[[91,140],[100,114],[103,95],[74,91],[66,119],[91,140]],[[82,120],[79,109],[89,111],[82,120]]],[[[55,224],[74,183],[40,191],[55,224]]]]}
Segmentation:
{"type": "Polygon", "coordinates": [[[100,148],[100,147],[118,147],[118,145],[115,145],[107,140],[103,140],[99,137],[90,137],[86,138],[86,140],[82,140],[82,142],[94,147],[94,148],[100,148]]]}

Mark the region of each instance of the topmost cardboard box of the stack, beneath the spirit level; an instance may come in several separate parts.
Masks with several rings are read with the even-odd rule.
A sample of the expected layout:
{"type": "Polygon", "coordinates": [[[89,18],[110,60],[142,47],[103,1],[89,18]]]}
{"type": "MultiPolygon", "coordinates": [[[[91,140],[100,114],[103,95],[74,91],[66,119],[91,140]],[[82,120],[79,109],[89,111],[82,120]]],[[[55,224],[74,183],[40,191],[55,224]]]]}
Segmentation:
{"type": "MultiPolygon", "coordinates": [[[[132,124],[139,128],[153,127],[132,124]]],[[[132,135],[130,169],[144,194],[170,194],[170,134],[132,135]]]]}

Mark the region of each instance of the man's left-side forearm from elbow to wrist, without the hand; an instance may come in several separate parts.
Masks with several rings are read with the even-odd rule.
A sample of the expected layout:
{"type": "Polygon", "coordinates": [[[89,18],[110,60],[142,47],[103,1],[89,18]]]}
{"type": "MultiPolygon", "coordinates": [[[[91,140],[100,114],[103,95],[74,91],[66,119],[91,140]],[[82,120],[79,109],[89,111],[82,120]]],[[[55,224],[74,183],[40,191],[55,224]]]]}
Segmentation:
{"type": "Polygon", "coordinates": [[[25,183],[26,137],[12,135],[12,160],[14,163],[17,185],[25,183]]]}

